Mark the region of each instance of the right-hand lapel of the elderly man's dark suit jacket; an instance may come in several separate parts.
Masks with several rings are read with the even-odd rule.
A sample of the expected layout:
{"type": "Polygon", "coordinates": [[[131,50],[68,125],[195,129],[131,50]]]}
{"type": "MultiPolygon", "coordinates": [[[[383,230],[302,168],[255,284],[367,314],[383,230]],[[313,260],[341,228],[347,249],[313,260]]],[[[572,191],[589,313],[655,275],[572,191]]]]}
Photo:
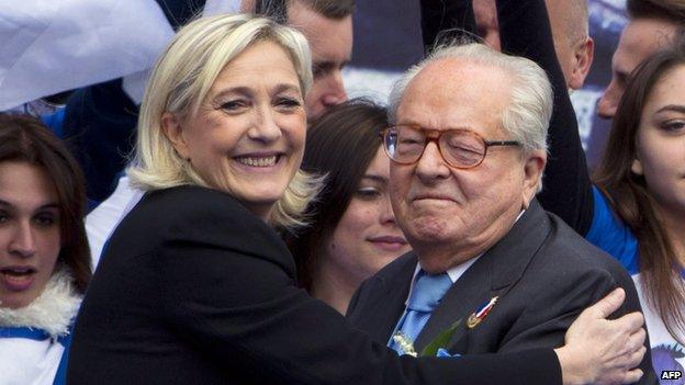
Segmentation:
{"type": "Polygon", "coordinates": [[[459,341],[470,330],[467,327],[469,316],[481,305],[494,296],[499,296],[498,302],[506,301],[506,293],[520,280],[549,233],[549,218],[534,200],[509,233],[450,287],[416,338],[416,351],[420,352],[461,319],[451,338],[452,342],[459,341]]]}

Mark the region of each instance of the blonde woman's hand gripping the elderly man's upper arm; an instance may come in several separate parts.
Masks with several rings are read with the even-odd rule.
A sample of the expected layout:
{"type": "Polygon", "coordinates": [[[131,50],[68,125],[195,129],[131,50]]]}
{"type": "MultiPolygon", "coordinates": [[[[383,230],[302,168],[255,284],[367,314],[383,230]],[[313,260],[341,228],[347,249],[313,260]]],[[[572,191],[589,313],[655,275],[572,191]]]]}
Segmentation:
{"type": "Polygon", "coordinates": [[[645,352],[642,314],[606,319],[625,298],[626,292],[616,288],[583,310],[571,325],[565,336],[566,344],[554,350],[564,385],[631,384],[642,377],[642,371],[635,369],[645,352]]]}

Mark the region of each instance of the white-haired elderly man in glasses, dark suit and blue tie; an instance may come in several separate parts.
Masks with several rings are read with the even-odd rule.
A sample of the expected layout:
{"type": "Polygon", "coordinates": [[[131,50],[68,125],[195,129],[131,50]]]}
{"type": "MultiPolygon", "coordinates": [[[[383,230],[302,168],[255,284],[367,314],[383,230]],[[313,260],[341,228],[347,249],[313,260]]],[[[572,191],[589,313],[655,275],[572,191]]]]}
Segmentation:
{"type": "MultiPolygon", "coordinates": [[[[632,282],[535,195],[552,91],[532,61],[441,48],[391,94],[391,201],[414,248],[368,280],[348,317],[400,353],[555,347],[580,310],[632,282]],[[439,87],[436,87],[439,84],[439,87]]],[[[649,353],[641,383],[653,383],[649,353]]]]}

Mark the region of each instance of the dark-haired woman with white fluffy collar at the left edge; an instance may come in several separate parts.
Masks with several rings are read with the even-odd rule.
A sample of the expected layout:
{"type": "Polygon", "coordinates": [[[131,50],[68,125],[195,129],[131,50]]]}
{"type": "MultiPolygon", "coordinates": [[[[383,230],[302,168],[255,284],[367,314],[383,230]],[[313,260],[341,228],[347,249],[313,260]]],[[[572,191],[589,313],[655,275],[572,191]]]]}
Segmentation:
{"type": "Polygon", "coordinates": [[[91,275],[83,185],[69,151],[41,122],[0,115],[1,384],[64,382],[64,353],[91,275]]]}

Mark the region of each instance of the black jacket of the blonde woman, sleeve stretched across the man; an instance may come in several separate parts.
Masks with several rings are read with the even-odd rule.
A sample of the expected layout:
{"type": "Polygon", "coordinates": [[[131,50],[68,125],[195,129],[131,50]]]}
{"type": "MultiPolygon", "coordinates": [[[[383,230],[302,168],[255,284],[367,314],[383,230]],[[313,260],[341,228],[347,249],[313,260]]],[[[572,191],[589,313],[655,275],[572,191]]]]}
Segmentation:
{"type": "Polygon", "coordinates": [[[547,385],[561,384],[561,371],[551,349],[400,358],[296,287],[271,227],[225,193],[182,186],[146,194],[110,239],[67,381],[547,385]]]}

